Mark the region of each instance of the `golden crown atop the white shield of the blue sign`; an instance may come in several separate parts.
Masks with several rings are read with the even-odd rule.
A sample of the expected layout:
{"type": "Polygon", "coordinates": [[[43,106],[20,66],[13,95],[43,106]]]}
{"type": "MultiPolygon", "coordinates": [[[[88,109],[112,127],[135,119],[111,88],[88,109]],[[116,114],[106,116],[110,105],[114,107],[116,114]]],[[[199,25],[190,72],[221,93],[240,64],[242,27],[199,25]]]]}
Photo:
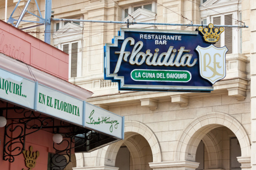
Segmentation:
{"type": "Polygon", "coordinates": [[[220,34],[224,31],[223,27],[215,28],[214,32],[212,31],[213,24],[210,23],[208,28],[203,28],[202,26],[198,27],[198,30],[204,35],[204,40],[210,43],[219,41],[220,34]],[[204,30],[204,31],[203,31],[204,30]],[[210,31],[209,31],[210,30],[210,31]]]}

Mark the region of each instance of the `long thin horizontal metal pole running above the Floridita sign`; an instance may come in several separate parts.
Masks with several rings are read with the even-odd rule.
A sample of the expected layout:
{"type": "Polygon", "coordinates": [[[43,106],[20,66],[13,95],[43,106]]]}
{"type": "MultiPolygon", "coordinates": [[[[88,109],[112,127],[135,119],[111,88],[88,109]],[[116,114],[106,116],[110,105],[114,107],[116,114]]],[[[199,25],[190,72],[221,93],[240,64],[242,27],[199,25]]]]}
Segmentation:
{"type": "MultiPolygon", "coordinates": [[[[77,22],[99,22],[99,23],[123,23],[123,24],[145,24],[145,25],[179,25],[179,26],[190,26],[190,27],[208,27],[207,24],[186,24],[186,23],[150,23],[150,22],[134,22],[134,21],[98,21],[98,20],[72,20],[72,19],[61,19],[52,18],[53,21],[77,21],[77,22]]],[[[248,28],[247,25],[213,25],[214,27],[235,27],[235,28],[248,28]]]]}

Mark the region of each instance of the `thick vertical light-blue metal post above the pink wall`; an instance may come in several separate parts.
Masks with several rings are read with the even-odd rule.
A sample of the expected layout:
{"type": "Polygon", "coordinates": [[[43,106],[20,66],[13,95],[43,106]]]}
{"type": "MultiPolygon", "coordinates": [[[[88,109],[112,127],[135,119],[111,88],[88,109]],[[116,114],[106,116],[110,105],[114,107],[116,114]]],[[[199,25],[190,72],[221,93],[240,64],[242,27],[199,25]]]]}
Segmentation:
{"type": "Polygon", "coordinates": [[[44,42],[51,43],[52,0],[45,0],[44,42]]]}

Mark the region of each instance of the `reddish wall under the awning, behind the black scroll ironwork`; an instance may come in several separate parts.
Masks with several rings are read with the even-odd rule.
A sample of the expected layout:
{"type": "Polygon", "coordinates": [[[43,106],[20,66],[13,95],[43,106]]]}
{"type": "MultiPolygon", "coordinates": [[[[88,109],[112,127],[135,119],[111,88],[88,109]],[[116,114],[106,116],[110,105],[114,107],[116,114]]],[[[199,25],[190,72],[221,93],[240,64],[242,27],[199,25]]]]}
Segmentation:
{"type": "MultiPolygon", "coordinates": [[[[14,105],[12,104],[8,104],[9,107],[14,107],[14,105]]],[[[0,108],[4,108],[6,107],[6,102],[1,102],[0,101],[0,108]]],[[[6,113],[6,110],[3,111],[4,115],[6,113]]],[[[8,152],[8,154],[14,155],[14,162],[9,162],[9,160],[3,160],[3,155],[4,155],[4,129],[5,127],[0,127],[0,170],[22,170],[22,168],[24,168],[24,170],[28,170],[29,168],[26,167],[25,164],[25,160],[26,158],[24,158],[24,154],[21,152],[22,150],[22,143],[20,143],[20,137],[22,137],[22,135],[24,135],[24,124],[19,123],[18,118],[19,117],[24,117],[24,114],[27,113],[26,115],[28,116],[30,114],[30,110],[25,109],[25,110],[21,110],[18,109],[17,111],[14,111],[14,109],[9,109],[8,110],[8,120],[7,120],[7,130],[6,130],[6,152],[8,152]],[[11,123],[13,123],[12,125],[10,125],[11,123]],[[8,126],[10,125],[10,126],[8,126]],[[20,127],[22,128],[20,128],[20,127]],[[23,129],[23,131],[22,131],[23,129]],[[11,138],[12,139],[11,139],[11,138]],[[16,138],[16,139],[14,139],[16,138]],[[8,143],[8,141],[12,140],[11,143],[8,143]],[[9,149],[8,149],[9,148],[9,149]],[[16,149],[15,149],[16,148],[16,149]],[[19,149],[17,149],[19,148],[19,149]],[[12,152],[10,152],[10,150],[13,150],[12,152]],[[19,155],[17,155],[19,154],[19,155]]],[[[38,116],[40,113],[35,112],[35,115],[38,116]]],[[[5,115],[6,116],[6,115],[5,115]]],[[[33,117],[33,116],[32,116],[33,117]]],[[[47,116],[45,115],[40,115],[40,117],[44,117],[47,118],[47,116]]],[[[41,119],[42,120],[42,119],[41,119]]],[[[53,123],[55,123],[56,125],[60,125],[60,120],[55,119],[54,122],[51,120],[48,121],[44,121],[44,126],[43,127],[47,127],[48,128],[44,128],[44,129],[30,129],[32,126],[38,125],[38,127],[41,126],[41,123],[39,120],[36,119],[30,119],[30,121],[28,121],[27,118],[24,118],[23,121],[26,121],[26,126],[28,127],[26,129],[26,135],[25,136],[25,141],[23,140],[23,138],[21,138],[22,142],[24,142],[25,144],[25,150],[29,151],[29,147],[32,146],[33,150],[32,152],[36,152],[39,151],[39,156],[36,159],[36,166],[34,168],[32,168],[32,170],[47,170],[47,166],[48,166],[48,153],[56,153],[56,150],[65,150],[68,149],[68,143],[66,141],[64,141],[62,144],[60,145],[54,145],[53,143],[53,133],[52,133],[52,126],[54,125],[53,123]],[[55,147],[55,149],[54,149],[55,147]]],[[[21,122],[23,122],[21,120],[21,122]]],[[[60,128],[61,129],[61,128],[60,128]]],[[[66,131],[66,129],[61,129],[62,132],[66,131]]],[[[67,130],[67,132],[69,132],[69,129],[67,130]]],[[[66,140],[66,138],[64,138],[63,140],[66,140]]],[[[72,147],[74,147],[74,145],[72,145],[72,147]]],[[[58,152],[58,151],[57,151],[58,152]]],[[[74,153],[74,149],[71,150],[71,153],[74,153]]],[[[5,154],[7,155],[7,154],[5,154]]],[[[12,159],[12,157],[10,156],[6,156],[5,159],[12,159]]]]}

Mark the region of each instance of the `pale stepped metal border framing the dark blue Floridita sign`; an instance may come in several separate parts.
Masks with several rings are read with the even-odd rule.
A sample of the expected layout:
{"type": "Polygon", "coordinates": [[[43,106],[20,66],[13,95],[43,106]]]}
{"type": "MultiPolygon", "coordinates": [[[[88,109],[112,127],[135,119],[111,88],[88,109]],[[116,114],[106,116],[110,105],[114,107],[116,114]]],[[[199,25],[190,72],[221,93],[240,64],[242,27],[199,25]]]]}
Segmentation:
{"type": "MultiPolygon", "coordinates": [[[[207,80],[206,81],[210,84],[210,86],[176,86],[176,85],[141,85],[141,84],[126,84],[125,83],[125,76],[120,76],[118,73],[113,73],[110,71],[110,62],[112,62],[113,53],[110,54],[110,48],[112,47],[120,47],[119,41],[123,41],[125,39],[125,32],[134,32],[134,33],[170,33],[170,34],[177,34],[177,35],[198,35],[198,31],[176,31],[176,30],[152,30],[152,29],[121,29],[118,32],[118,36],[114,36],[112,39],[112,43],[106,43],[104,46],[104,79],[105,80],[112,80],[113,82],[118,82],[119,90],[138,90],[138,91],[180,91],[180,92],[210,92],[213,90],[212,85],[207,80]],[[164,32],[163,32],[164,31],[164,32]],[[119,46],[118,46],[119,45],[119,46]]],[[[203,41],[203,39],[202,39],[203,41]]],[[[206,42],[204,42],[206,43],[206,42]]],[[[128,45],[128,43],[127,43],[128,45]]],[[[130,45],[130,44],[129,44],[130,45]]],[[[208,43],[210,45],[210,43],[208,43]]],[[[195,49],[193,49],[195,51],[195,49]]],[[[145,51],[144,51],[145,52],[145,51]]],[[[152,52],[153,53],[153,52],[152,52]]],[[[126,57],[126,60],[127,57],[126,57]]],[[[122,61],[123,62],[123,61],[122,61]]],[[[128,61],[127,61],[128,62],[128,61]]],[[[199,62],[199,61],[197,61],[199,62]]],[[[121,64],[120,64],[121,65],[121,64]]],[[[121,67],[120,67],[121,69],[121,67]]],[[[142,68],[145,69],[145,68],[142,68]]],[[[148,69],[150,70],[150,69],[148,69]]],[[[156,69],[157,70],[157,69],[156,69]]],[[[198,69],[199,70],[199,69],[198,69]]],[[[186,71],[186,70],[184,70],[186,71]]],[[[198,71],[199,72],[199,71],[198,71]]],[[[198,74],[199,77],[199,74],[198,74]]],[[[141,81],[141,80],[136,80],[141,81]]],[[[150,82],[150,80],[148,81],[150,82]]],[[[157,82],[157,81],[155,81],[157,82]]],[[[161,82],[158,80],[158,82],[161,82]]]]}

